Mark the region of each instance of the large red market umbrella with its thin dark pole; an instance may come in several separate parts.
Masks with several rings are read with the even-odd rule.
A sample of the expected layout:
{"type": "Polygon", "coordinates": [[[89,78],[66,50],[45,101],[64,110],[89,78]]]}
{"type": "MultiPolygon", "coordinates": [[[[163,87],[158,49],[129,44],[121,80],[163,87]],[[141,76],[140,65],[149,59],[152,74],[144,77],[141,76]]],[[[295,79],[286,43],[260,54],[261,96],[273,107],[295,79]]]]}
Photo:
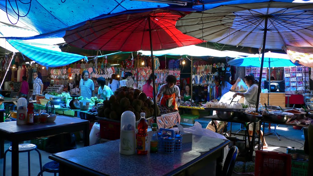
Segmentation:
{"type": "MultiPolygon", "coordinates": [[[[82,27],[67,31],[64,40],[84,49],[138,51],[171,49],[202,43],[175,28],[179,18],[188,14],[173,10],[155,9],[145,12],[126,12],[118,16],[87,21],[82,27]]],[[[154,74],[154,58],[152,74],[154,74]]],[[[153,82],[155,82],[154,77],[153,82]]],[[[154,116],[156,122],[156,92],[153,84],[154,116]]]]}

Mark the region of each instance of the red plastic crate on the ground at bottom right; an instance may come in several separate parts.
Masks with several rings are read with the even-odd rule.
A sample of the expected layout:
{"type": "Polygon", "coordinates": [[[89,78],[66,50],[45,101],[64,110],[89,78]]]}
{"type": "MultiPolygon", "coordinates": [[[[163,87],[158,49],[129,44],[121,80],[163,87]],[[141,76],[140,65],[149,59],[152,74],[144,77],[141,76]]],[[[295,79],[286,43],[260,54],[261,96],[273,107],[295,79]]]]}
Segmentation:
{"type": "Polygon", "coordinates": [[[291,155],[278,152],[255,151],[254,176],[291,176],[291,155]]]}

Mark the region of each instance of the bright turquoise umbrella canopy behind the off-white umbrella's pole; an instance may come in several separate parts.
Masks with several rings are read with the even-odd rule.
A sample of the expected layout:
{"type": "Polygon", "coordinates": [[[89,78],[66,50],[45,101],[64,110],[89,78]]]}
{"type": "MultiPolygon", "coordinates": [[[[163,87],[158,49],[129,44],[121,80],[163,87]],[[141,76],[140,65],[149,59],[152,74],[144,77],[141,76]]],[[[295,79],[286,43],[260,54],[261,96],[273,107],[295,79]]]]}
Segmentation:
{"type": "MultiPolygon", "coordinates": [[[[253,54],[248,57],[236,58],[228,61],[229,65],[236,67],[261,67],[260,54],[253,54]]],[[[287,54],[280,53],[264,53],[263,67],[289,67],[297,66],[299,64],[294,64],[289,60],[287,54]]]]}

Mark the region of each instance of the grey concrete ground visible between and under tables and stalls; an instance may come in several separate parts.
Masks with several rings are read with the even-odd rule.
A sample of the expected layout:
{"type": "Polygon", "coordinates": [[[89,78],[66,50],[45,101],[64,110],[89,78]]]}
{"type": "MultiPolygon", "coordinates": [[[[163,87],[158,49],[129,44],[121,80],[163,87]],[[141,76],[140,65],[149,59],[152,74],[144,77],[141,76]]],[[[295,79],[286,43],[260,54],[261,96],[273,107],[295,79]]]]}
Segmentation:
{"type": "MultiPolygon", "coordinates": [[[[230,129],[229,125],[228,125],[228,130],[230,129]]],[[[190,126],[184,125],[184,127],[190,127],[190,126]]],[[[232,132],[237,132],[239,128],[240,128],[240,124],[238,123],[232,124],[232,132]]],[[[272,124],[272,129],[274,129],[273,124],[272,124]]],[[[241,131],[240,133],[243,133],[243,132],[244,131],[241,131]]],[[[275,135],[265,136],[265,140],[269,145],[269,148],[265,150],[283,152],[283,153],[286,153],[286,147],[295,147],[297,149],[303,150],[304,139],[301,138],[301,135],[303,134],[302,130],[294,130],[292,126],[279,125],[279,127],[277,127],[277,133],[281,135],[280,136],[281,141],[279,141],[275,135]]],[[[78,148],[83,147],[82,142],[76,142],[76,145],[78,148]]],[[[6,141],[5,150],[8,149],[8,147],[10,147],[10,142],[6,141]]],[[[40,153],[42,156],[43,165],[45,163],[52,161],[48,158],[48,156],[51,155],[51,153],[47,153],[42,150],[40,150],[40,153]]],[[[39,158],[38,158],[38,153],[36,151],[31,152],[30,162],[31,162],[31,175],[36,176],[40,171],[39,158]]],[[[20,153],[19,163],[16,163],[16,164],[19,165],[19,173],[21,176],[28,175],[27,153],[20,153]]],[[[0,175],[3,175],[3,158],[0,159],[0,175]]],[[[6,175],[7,176],[11,175],[11,153],[10,152],[7,153],[6,175]]],[[[53,173],[44,173],[44,175],[52,176],[53,173]]],[[[237,175],[237,174],[233,174],[233,175],[237,175]]]]}

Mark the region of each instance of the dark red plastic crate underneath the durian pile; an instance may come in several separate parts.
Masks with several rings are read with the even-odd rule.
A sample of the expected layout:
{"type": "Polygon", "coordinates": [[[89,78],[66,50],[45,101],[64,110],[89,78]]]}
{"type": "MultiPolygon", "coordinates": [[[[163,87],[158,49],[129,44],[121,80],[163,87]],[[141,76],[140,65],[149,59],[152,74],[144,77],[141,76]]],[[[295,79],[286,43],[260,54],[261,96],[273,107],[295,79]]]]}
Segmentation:
{"type": "Polygon", "coordinates": [[[106,120],[99,120],[100,137],[102,139],[116,140],[121,135],[121,122],[112,122],[106,120]]]}

